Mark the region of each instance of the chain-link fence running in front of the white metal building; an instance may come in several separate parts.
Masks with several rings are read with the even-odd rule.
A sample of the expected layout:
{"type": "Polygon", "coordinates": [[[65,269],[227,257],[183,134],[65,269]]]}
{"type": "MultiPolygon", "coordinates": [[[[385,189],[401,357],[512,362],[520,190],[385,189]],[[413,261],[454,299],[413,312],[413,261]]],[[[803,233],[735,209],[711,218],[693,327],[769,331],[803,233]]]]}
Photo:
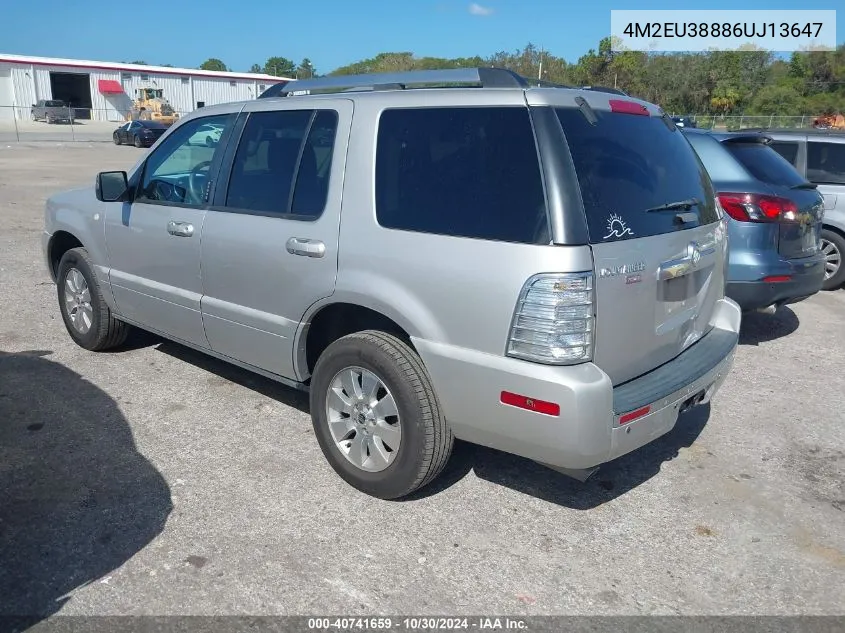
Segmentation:
{"type": "MultiPolygon", "coordinates": [[[[187,113],[143,117],[171,125],[187,113]]],[[[37,108],[0,105],[0,143],[32,141],[111,142],[115,130],[131,117],[129,112],[91,108],[37,108]]]]}

